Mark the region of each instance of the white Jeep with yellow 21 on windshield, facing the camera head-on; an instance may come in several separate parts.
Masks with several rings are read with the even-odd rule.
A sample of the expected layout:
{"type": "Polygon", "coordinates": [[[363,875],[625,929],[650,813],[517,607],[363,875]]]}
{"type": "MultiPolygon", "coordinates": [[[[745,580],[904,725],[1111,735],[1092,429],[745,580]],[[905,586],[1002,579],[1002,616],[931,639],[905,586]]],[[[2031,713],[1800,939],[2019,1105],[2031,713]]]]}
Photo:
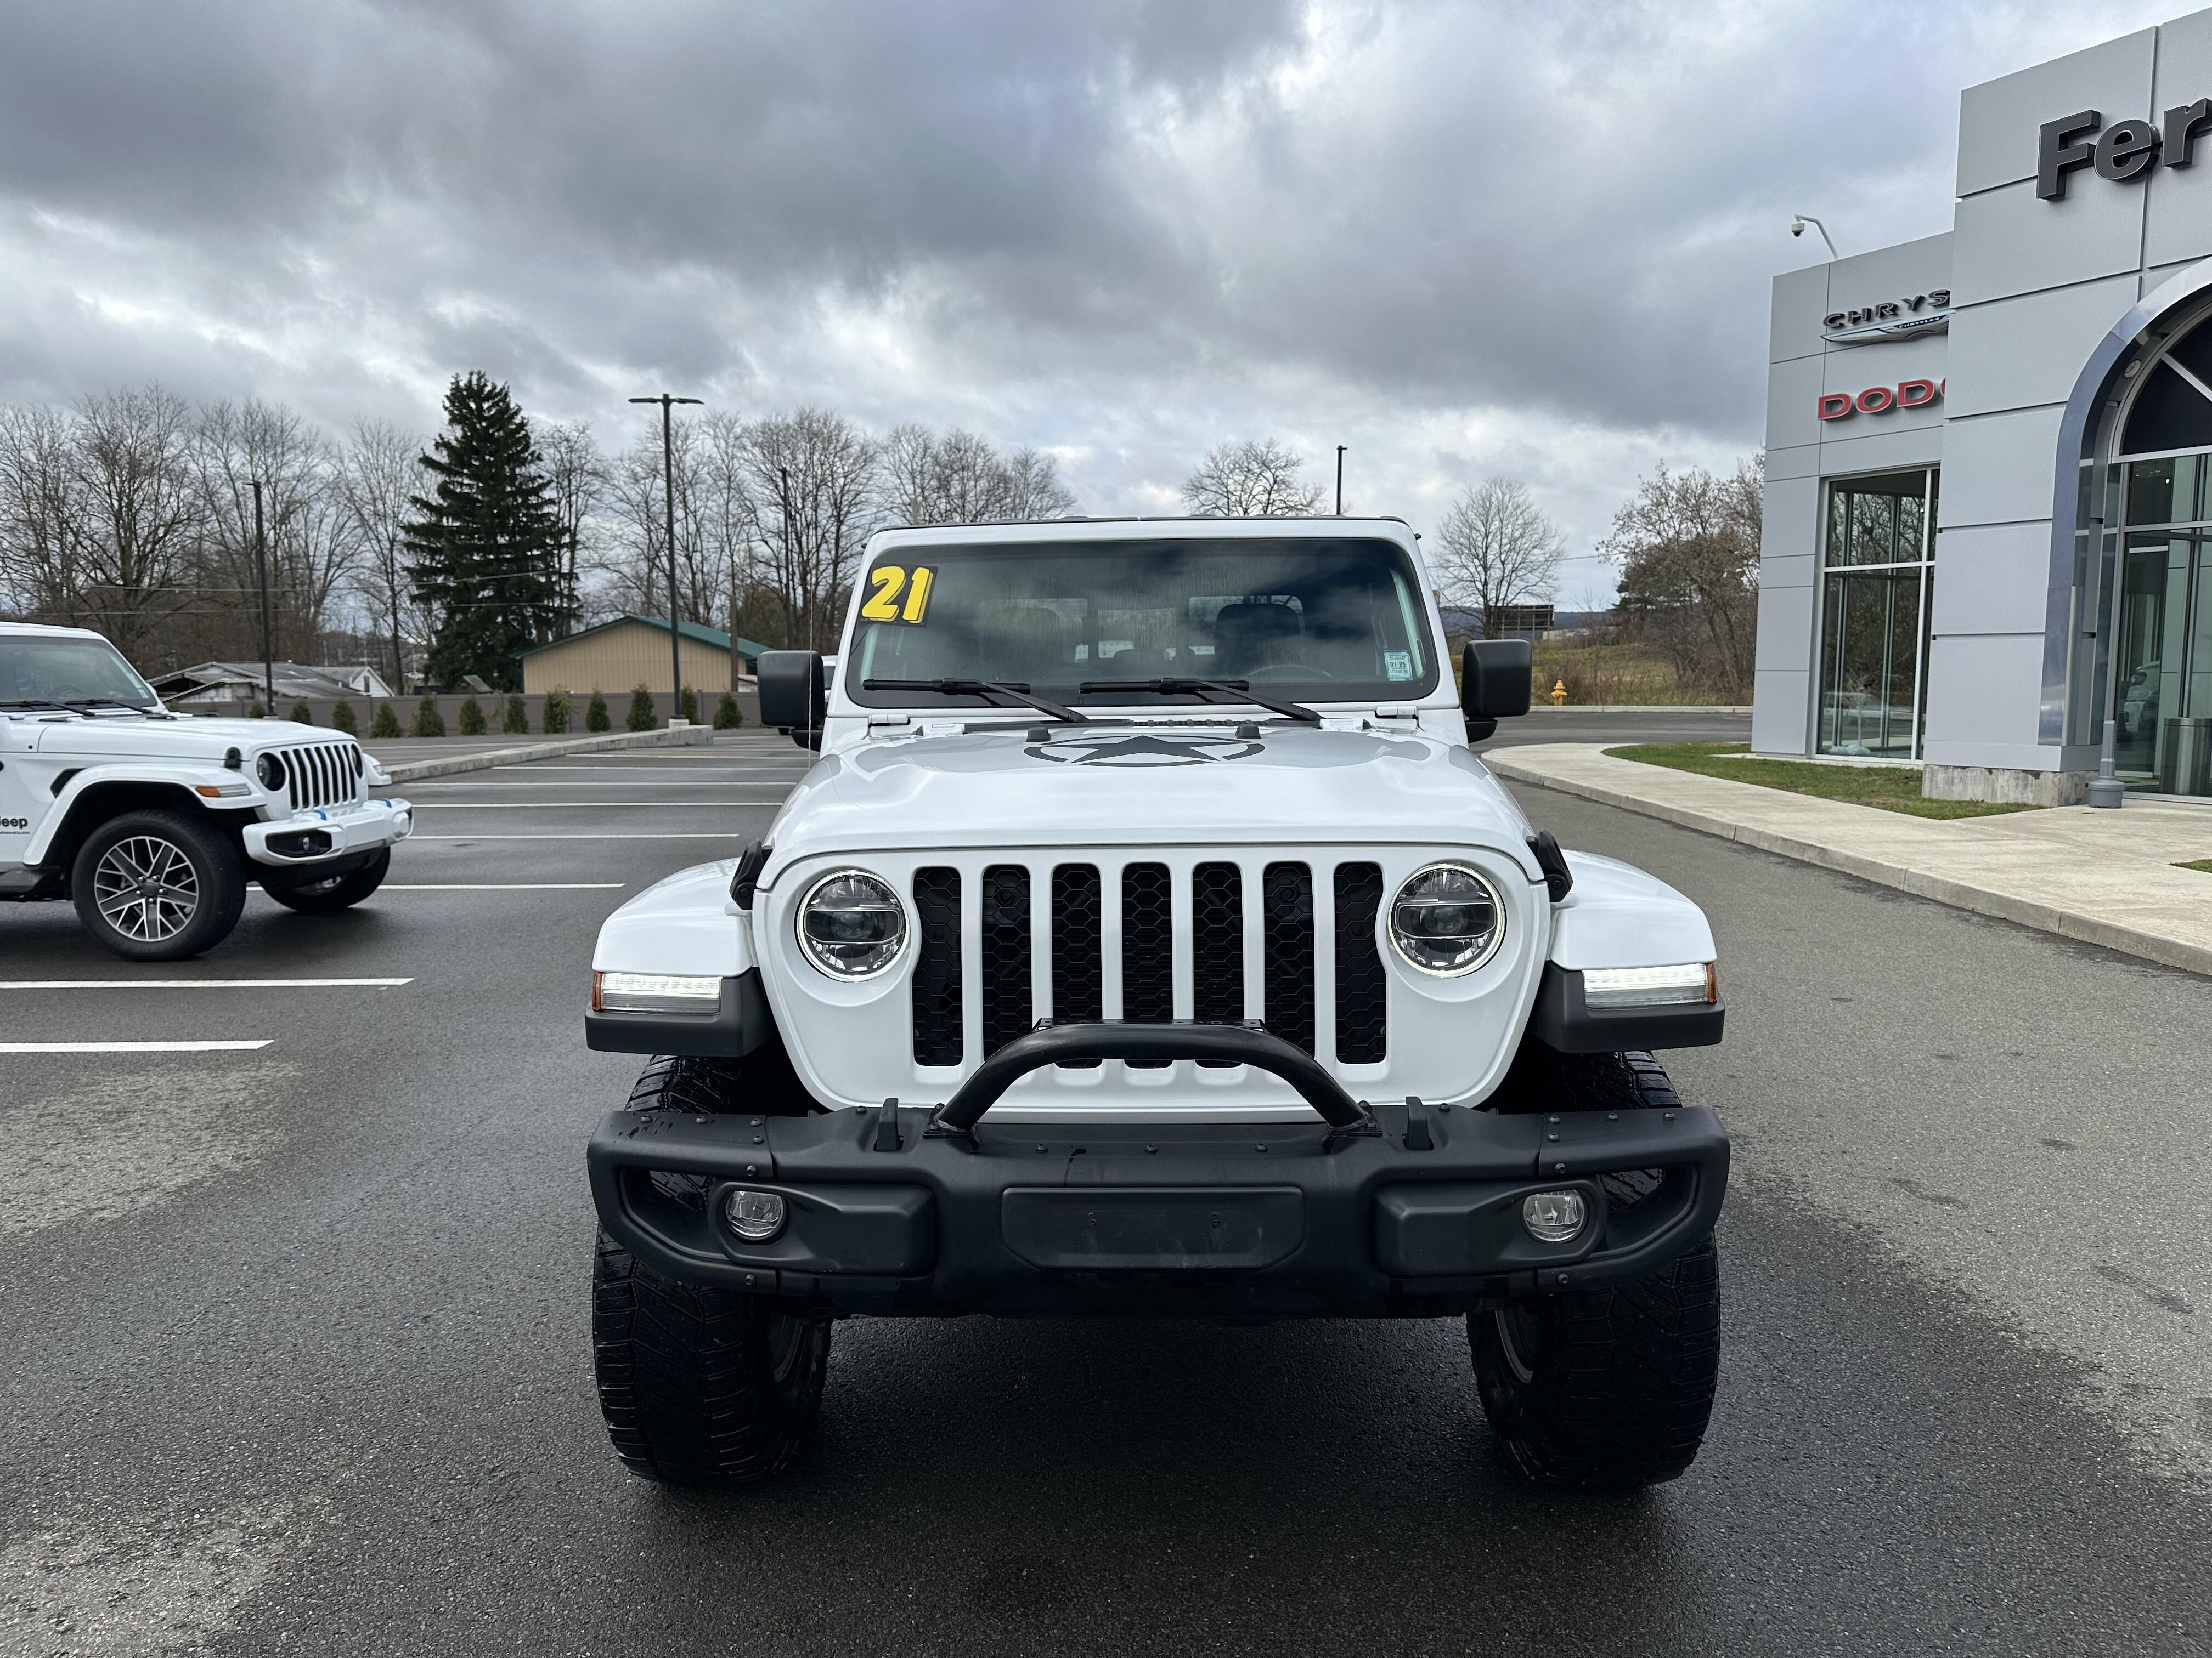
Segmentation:
{"type": "Polygon", "coordinates": [[[832,1320],[1467,1318],[1533,1477],[1672,1479],[1719,1362],[1712,931],[1562,853],[1471,743],[1398,520],[869,542],[821,752],[743,858],[615,911],[593,1048],[599,1402],[677,1483],[796,1452],[832,1320]]]}

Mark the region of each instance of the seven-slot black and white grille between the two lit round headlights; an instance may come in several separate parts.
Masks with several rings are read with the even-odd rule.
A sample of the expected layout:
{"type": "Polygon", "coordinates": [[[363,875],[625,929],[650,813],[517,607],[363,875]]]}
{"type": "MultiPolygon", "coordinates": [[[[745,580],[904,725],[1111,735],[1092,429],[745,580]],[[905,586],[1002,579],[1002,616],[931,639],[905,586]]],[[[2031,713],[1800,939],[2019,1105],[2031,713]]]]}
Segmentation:
{"type": "MultiPolygon", "coordinates": [[[[1239,1024],[1250,1012],[1305,1052],[1316,1052],[1316,1039],[1327,1032],[1323,1059],[1383,1063],[1389,997],[1376,946],[1383,869],[1374,862],[1316,869],[1214,860],[1177,871],[1164,862],[1099,869],[1040,860],[1035,867],[971,869],[967,882],[958,869],[918,869],[914,1063],[962,1063],[967,995],[978,997],[978,1037],[982,1054],[991,1054],[1035,1028],[1037,1017],[1057,1024],[1175,1019],[1179,986],[1188,1017],[1201,1024],[1239,1024]],[[964,886],[973,889],[967,902],[964,886]],[[1110,895],[1119,904],[1108,906],[1110,895]],[[1259,913],[1248,917],[1250,904],[1259,913]],[[1323,922],[1334,935],[1327,975],[1321,973],[1323,922]],[[1119,935],[1119,951],[1106,948],[1110,931],[1119,935]],[[1110,973],[1113,955],[1119,955],[1119,973],[1110,973]],[[967,982],[969,962],[973,982],[967,982]],[[1110,997],[1110,988],[1119,995],[1110,997]],[[1327,1019],[1323,995],[1334,1004],[1327,1019]]],[[[1152,1070],[1166,1061],[1128,1063],[1152,1070]]]]}

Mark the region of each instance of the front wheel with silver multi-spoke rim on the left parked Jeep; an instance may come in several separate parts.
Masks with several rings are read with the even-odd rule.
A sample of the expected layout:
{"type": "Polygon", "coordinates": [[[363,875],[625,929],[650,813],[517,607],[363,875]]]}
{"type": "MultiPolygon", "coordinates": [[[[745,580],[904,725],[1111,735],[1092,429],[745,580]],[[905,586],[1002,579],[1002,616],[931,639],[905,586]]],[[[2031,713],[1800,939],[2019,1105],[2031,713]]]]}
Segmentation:
{"type": "Polygon", "coordinates": [[[175,811],[126,811],[93,829],[69,867],[84,931],[131,962],[212,951],[246,909],[246,853],[175,811]]]}

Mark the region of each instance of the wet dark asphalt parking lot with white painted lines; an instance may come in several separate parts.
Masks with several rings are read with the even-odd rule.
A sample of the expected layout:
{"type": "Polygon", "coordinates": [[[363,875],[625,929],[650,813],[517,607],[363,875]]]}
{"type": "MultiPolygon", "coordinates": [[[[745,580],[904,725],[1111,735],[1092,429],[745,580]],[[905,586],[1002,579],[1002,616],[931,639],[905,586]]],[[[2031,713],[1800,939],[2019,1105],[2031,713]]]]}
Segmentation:
{"type": "Polygon", "coordinates": [[[2212,1643],[2205,982],[1542,791],[1721,937],[1730,1041],[1674,1061],[1736,1134],[1686,1479],[1520,1483],[1458,1324],[991,1320],[841,1324],[772,1488],[628,1479],[582,1141],[637,1061],[582,1046],[591,942],[803,763],[411,785],[369,904],[257,895],[159,970],[0,911],[7,1041],[254,1043],[0,1052],[0,1651],[2212,1643]]]}

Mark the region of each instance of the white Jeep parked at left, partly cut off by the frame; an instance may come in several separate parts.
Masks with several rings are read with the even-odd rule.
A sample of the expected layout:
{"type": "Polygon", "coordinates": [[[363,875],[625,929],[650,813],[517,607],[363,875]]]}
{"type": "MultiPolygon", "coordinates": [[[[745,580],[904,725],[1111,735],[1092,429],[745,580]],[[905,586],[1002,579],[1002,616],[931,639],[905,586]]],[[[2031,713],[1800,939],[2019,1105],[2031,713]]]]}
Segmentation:
{"type": "Polygon", "coordinates": [[[133,962],[221,944],[248,880],[358,904],[414,827],[387,785],[345,732],[181,718],[97,632],[0,621],[0,898],[69,898],[133,962]]]}

